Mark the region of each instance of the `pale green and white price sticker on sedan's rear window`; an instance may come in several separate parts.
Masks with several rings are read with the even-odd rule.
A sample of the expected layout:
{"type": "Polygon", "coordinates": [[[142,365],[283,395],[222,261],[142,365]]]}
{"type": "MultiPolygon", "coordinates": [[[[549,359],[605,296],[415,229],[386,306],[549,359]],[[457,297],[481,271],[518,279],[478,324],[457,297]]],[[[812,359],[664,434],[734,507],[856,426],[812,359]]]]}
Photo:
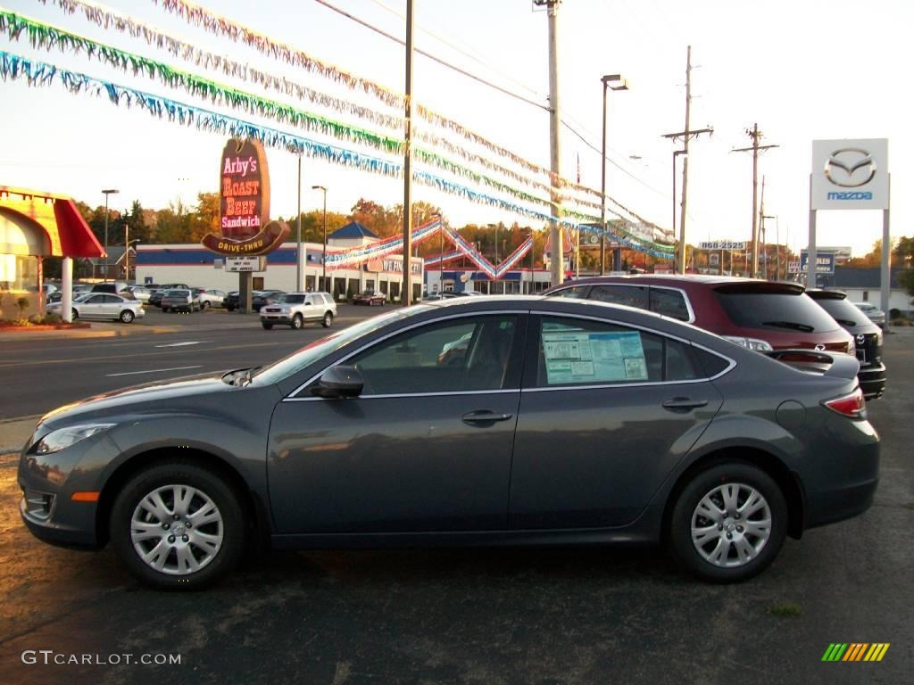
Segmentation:
{"type": "Polygon", "coordinates": [[[548,385],[646,381],[638,332],[543,332],[548,385]]]}

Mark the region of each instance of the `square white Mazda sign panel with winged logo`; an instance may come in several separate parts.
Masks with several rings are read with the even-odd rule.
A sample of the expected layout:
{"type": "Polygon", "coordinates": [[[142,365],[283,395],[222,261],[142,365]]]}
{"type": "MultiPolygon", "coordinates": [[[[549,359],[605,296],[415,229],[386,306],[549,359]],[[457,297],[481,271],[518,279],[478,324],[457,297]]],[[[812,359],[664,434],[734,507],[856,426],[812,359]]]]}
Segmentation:
{"type": "Polygon", "coordinates": [[[810,209],[888,209],[888,140],[813,141],[810,209]]]}

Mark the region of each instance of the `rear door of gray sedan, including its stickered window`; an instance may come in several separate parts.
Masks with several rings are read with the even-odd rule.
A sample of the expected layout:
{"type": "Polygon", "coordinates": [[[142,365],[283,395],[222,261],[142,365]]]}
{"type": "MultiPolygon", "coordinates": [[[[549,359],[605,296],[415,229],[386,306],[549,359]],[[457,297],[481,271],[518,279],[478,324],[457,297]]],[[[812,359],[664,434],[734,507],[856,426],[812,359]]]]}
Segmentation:
{"type": "Polygon", "coordinates": [[[721,405],[688,342],[532,316],[511,473],[513,529],[634,521],[721,405]]]}

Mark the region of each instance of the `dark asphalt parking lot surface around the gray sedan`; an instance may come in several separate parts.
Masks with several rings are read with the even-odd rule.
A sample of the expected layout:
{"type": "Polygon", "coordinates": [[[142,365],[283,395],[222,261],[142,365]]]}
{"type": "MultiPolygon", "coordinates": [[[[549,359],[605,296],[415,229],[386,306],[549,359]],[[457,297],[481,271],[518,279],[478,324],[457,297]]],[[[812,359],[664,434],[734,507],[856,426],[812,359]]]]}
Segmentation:
{"type": "MultiPolygon", "coordinates": [[[[203,330],[152,338],[187,342],[203,330]]],[[[254,333],[224,334],[244,344],[254,333]]],[[[883,438],[874,507],[788,540],[743,585],[696,583],[654,549],[405,550],[271,553],[210,591],[156,593],[110,550],[32,538],[16,511],[17,457],[0,456],[0,680],[909,682],[914,334],[887,336],[886,357],[890,385],[870,405],[883,438]],[[823,662],[834,642],[890,647],[878,663],[823,662]],[[72,655],[93,662],[54,663],[72,655]]],[[[26,371],[0,368],[0,378],[26,371]]]]}

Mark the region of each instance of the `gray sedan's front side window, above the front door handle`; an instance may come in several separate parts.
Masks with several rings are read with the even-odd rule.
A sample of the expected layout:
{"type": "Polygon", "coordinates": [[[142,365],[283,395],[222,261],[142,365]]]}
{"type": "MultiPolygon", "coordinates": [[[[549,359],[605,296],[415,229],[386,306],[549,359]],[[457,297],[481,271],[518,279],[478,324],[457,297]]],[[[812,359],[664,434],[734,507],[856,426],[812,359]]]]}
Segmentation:
{"type": "MultiPolygon", "coordinates": [[[[356,355],[363,395],[499,390],[507,385],[515,315],[441,321],[356,355]]],[[[513,385],[513,384],[512,384],[513,385]]]]}

